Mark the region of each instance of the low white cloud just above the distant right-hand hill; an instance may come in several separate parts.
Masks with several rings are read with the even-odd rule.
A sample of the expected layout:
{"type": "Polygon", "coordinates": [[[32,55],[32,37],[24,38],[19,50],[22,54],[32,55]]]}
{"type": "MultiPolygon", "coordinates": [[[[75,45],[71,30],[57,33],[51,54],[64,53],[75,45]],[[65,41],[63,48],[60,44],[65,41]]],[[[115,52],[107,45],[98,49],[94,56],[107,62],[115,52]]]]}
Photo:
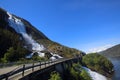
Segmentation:
{"type": "Polygon", "coordinates": [[[106,50],[110,47],[112,47],[113,45],[112,44],[108,44],[108,45],[105,45],[105,46],[100,46],[100,47],[96,47],[96,48],[91,48],[88,50],[87,53],[94,53],[94,52],[100,52],[100,51],[103,51],[103,50],[106,50]]]}

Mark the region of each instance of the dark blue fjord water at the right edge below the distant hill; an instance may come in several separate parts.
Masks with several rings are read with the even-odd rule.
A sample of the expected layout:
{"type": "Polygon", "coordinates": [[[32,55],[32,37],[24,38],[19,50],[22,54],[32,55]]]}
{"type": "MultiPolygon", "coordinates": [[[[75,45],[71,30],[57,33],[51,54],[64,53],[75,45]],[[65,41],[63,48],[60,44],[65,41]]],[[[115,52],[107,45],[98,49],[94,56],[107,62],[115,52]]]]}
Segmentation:
{"type": "Polygon", "coordinates": [[[112,57],[109,60],[113,63],[115,70],[112,80],[120,80],[120,57],[112,57]]]}

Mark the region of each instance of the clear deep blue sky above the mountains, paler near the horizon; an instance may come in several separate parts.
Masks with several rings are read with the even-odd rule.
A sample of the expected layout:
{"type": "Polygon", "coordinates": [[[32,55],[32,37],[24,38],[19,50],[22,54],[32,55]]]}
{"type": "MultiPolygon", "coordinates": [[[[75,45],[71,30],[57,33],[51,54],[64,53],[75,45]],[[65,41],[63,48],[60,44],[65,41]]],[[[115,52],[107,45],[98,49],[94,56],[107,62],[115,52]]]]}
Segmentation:
{"type": "Polygon", "coordinates": [[[0,0],[0,7],[84,52],[120,43],[120,0],[0,0]]]}

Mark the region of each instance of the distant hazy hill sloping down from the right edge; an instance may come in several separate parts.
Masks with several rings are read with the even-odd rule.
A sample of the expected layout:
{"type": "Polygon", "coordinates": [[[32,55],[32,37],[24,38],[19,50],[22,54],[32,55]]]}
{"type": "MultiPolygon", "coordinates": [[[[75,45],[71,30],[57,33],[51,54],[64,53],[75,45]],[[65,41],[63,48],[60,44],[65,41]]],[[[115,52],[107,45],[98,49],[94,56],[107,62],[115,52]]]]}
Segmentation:
{"type": "Polygon", "coordinates": [[[120,44],[108,48],[100,53],[107,57],[120,57],[120,44]]]}

